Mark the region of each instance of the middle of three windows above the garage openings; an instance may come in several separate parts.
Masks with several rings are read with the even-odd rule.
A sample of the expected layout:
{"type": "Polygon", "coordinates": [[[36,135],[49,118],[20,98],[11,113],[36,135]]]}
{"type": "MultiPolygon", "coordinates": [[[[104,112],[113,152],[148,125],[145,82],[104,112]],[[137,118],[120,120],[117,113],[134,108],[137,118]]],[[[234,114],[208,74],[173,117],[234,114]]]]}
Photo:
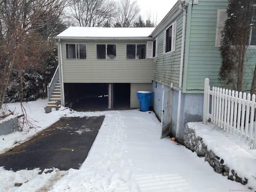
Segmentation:
{"type": "Polygon", "coordinates": [[[96,44],[97,59],[116,60],[116,44],[96,44]]]}

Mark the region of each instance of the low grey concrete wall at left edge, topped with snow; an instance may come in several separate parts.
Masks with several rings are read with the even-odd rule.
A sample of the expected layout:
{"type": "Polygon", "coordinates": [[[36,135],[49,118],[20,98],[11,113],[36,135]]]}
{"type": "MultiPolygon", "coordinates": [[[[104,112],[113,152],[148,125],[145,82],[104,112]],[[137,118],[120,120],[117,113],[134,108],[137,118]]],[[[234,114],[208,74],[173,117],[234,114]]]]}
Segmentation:
{"type": "Polygon", "coordinates": [[[0,121],[0,135],[7,135],[18,130],[18,118],[16,116],[0,121]]]}

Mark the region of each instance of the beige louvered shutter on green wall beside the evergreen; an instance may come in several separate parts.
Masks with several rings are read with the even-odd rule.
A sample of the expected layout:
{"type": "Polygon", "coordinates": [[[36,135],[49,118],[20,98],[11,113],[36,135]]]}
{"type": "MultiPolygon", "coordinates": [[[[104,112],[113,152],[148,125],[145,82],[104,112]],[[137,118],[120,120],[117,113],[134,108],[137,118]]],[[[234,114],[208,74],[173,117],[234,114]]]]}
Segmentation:
{"type": "Polygon", "coordinates": [[[228,18],[226,11],[226,9],[218,9],[215,47],[220,47],[222,30],[224,29],[225,21],[228,18]]]}

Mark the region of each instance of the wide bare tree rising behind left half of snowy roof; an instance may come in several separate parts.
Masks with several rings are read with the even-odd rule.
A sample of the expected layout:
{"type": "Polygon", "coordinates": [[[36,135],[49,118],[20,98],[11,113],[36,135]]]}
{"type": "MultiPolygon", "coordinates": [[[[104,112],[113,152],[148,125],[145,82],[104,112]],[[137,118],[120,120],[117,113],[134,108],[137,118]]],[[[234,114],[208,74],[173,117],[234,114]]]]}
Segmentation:
{"type": "Polygon", "coordinates": [[[114,14],[114,2],[110,0],[72,0],[71,18],[80,27],[101,27],[114,14]]]}

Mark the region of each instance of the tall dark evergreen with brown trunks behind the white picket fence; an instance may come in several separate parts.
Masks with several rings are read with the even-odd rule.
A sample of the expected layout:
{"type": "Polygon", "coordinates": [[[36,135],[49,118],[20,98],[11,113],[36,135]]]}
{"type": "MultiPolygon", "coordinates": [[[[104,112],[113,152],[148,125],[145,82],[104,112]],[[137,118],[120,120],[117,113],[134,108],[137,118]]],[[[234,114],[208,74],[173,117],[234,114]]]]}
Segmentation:
{"type": "MultiPolygon", "coordinates": [[[[256,0],[229,0],[220,55],[219,81],[237,91],[242,91],[246,49],[249,45],[252,27],[255,27],[254,4],[256,0]]],[[[254,88],[255,90],[255,88],[254,88]]]]}

